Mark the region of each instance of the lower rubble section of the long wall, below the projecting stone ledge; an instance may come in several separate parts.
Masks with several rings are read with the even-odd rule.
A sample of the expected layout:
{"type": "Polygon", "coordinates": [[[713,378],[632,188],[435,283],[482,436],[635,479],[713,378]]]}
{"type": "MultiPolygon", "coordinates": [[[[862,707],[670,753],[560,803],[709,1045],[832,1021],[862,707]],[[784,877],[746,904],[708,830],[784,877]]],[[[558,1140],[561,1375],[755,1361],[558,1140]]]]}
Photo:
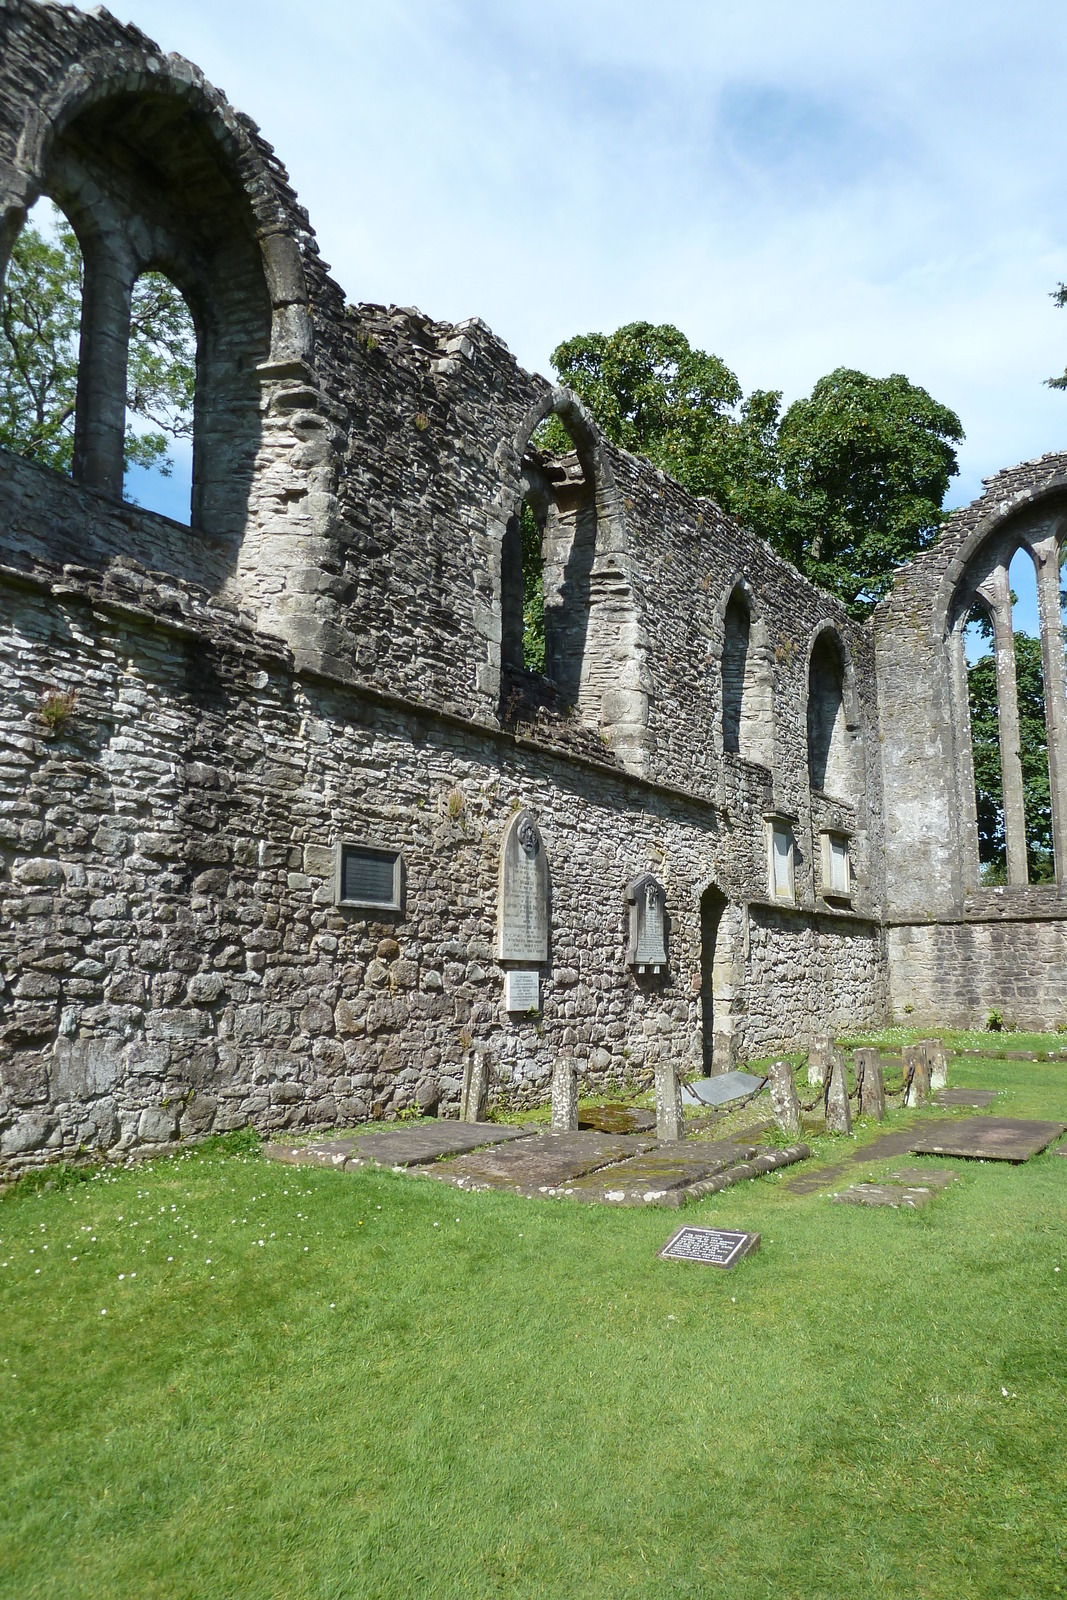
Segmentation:
{"type": "MultiPolygon", "coordinates": [[[[152,584],[8,578],[0,643],[0,1150],[165,1142],[384,1115],[459,1094],[472,1042],[494,1093],[544,1098],[571,1050],[589,1086],[701,1064],[699,896],[729,882],[710,806],[531,741],[294,675],[235,614],[152,584]],[[210,624],[210,626],[205,626],[210,624]],[[78,685],[50,731],[42,698],[78,685]],[[553,880],[542,1014],[502,1010],[499,848],[514,810],[553,880]],[[402,914],[334,904],[334,840],[403,850],[402,914]],[[667,885],[665,981],[624,965],[625,886],[667,885]]],[[[752,910],[733,960],[739,1050],[881,1014],[872,930],[752,910]],[[862,936],[865,933],[865,938],[862,936]],[[862,942],[862,950],[859,944],[862,942]]]]}

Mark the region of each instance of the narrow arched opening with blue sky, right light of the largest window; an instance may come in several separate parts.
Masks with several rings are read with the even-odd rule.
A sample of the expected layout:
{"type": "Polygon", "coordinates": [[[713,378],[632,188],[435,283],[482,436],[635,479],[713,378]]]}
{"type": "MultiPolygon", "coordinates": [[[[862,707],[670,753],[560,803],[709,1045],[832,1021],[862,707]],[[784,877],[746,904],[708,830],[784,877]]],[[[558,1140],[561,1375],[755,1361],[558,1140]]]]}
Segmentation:
{"type": "Polygon", "coordinates": [[[174,522],[192,517],[197,330],[181,290],[142,272],[130,298],[126,499],[174,522]]]}

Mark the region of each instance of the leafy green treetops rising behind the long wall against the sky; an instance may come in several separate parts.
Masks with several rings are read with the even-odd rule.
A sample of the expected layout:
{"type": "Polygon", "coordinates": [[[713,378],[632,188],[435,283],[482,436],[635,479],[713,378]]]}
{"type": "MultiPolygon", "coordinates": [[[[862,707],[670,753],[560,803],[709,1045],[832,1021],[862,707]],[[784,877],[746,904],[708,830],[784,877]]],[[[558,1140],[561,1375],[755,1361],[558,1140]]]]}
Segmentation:
{"type": "Polygon", "coordinates": [[[838,368],[781,413],[672,326],[568,339],[552,365],[608,438],[709,494],[867,616],[926,549],[957,472],[960,419],[907,378],[838,368]]]}

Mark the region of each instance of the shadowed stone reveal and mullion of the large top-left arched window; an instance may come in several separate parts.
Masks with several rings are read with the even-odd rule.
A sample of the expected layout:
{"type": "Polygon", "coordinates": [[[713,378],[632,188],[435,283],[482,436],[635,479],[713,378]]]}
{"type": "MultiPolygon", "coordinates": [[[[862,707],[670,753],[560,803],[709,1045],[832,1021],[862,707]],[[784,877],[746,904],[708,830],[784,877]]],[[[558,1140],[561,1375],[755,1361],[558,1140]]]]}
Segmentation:
{"type": "Polygon", "coordinates": [[[85,269],[74,477],[123,494],[131,306],[144,275],[160,272],[195,326],[189,520],[238,542],[272,299],[235,141],[197,96],[147,74],[102,78],[46,123],[56,131],[37,152],[35,184],[70,219],[85,269]]]}

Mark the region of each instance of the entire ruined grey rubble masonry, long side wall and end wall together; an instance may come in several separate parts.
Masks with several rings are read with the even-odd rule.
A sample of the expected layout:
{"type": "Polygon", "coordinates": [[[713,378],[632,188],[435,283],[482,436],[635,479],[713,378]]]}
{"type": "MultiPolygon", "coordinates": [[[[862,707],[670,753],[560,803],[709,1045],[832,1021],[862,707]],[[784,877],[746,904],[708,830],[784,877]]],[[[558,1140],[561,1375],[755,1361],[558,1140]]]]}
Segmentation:
{"type": "Polygon", "coordinates": [[[1059,902],[1040,970],[1030,901],[992,942],[966,922],[941,546],[857,624],[478,318],[347,304],[278,157],[190,62],[102,8],[0,0],[0,270],[40,192],[93,219],[90,354],[78,482],[0,451],[0,1160],[456,1115],[475,1059],[491,1099],[530,1106],[561,1054],[619,1091],[702,1074],[712,1038],[718,1067],[902,1003],[1054,1008],[1059,902]],[[189,259],[213,330],[190,526],[114,498],[115,285],[152,253],[189,259]],[[555,462],[528,448],[550,411],[576,446],[555,462]],[[526,494],[549,506],[553,683],[514,661],[526,494]],[[753,672],[734,598],[725,739],[736,595],[753,672]],[[813,654],[843,664],[835,794],[809,778],[813,654]],[[523,808],[550,939],[541,1016],[510,1018],[498,896],[523,808]],[[769,816],[795,902],[769,891],[769,816]],[[824,894],[827,830],[848,901],[824,894]],[[403,853],[398,912],[334,902],[341,840],[403,853]],[[641,874],[667,893],[662,974],[625,965],[641,874]]]}

